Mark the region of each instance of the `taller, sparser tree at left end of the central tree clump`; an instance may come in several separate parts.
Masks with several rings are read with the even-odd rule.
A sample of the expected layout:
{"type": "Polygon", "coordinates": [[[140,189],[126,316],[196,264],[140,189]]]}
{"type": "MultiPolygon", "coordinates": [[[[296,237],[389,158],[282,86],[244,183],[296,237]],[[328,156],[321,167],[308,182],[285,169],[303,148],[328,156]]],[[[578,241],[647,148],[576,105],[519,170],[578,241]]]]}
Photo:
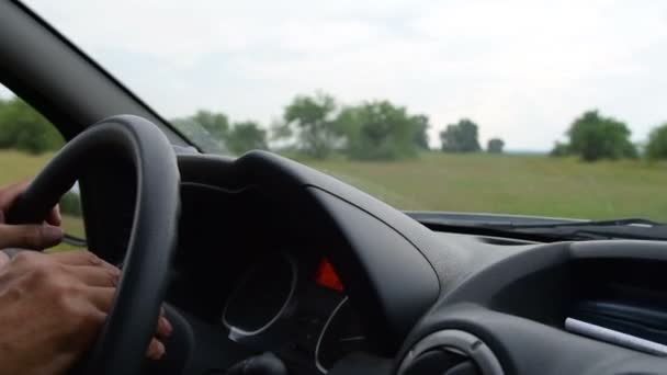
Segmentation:
{"type": "Polygon", "coordinates": [[[337,104],[334,96],[317,92],[314,96],[298,95],[285,107],[284,124],[276,134],[296,135],[302,151],[324,159],[340,143],[334,125],[337,104]]]}

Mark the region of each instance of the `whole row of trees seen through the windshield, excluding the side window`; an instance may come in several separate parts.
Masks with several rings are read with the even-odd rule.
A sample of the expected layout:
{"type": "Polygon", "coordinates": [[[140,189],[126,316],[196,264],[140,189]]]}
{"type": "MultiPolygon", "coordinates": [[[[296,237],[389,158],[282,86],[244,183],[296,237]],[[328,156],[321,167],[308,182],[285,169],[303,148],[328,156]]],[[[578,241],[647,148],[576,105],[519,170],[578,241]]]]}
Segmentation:
{"type": "MultiPolygon", "coordinates": [[[[201,124],[228,149],[241,154],[250,146],[268,148],[271,140],[291,140],[287,149],[324,159],[331,154],[347,155],[352,160],[397,160],[411,158],[429,149],[428,129],[431,126],[425,114],[409,113],[405,106],[389,101],[365,101],[357,105],[340,105],[331,95],[318,92],[314,95],[297,95],[284,107],[280,121],[270,132],[260,130],[257,122],[252,132],[235,135],[218,132],[211,121],[197,120],[224,117],[224,114],[197,112],[174,123],[201,124]],[[240,140],[239,137],[245,140],[240,140]],[[238,146],[237,146],[238,145],[238,146]]],[[[227,129],[227,121],[218,128],[227,129]]],[[[234,127],[231,127],[234,128],[234,127]]],[[[483,149],[478,140],[479,126],[470,118],[449,124],[440,132],[441,151],[451,154],[482,152],[501,154],[505,140],[491,138],[483,149]]],[[[586,111],[576,117],[565,132],[567,140],[556,141],[550,151],[552,157],[577,157],[584,161],[600,159],[618,160],[645,157],[649,160],[667,159],[667,123],[654,128],[645,145],[635,145],[630,139],[626,123],[604,116],[597,110],[586,111]]],[[[210,141],[210,138],[206,137],[210,141]]]]}

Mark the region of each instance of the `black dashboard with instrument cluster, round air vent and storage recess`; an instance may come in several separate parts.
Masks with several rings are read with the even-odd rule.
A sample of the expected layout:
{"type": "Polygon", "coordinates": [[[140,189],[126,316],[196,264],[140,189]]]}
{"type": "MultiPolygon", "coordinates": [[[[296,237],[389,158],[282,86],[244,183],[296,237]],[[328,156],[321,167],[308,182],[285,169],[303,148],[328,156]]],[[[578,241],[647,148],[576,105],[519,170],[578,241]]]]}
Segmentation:
{"type": "MultiPolygon", "coordinates": [[[[169,368],[225,374],[272,352],[290,374],[663,374],[667,246],[540,243],[431,230],[268,152],[184,155],[169,368]]],[[[167,367],[162,367],[167,368],[167,367]]],[[[176,373],[176,372],[174,372],[176,373]]]]}

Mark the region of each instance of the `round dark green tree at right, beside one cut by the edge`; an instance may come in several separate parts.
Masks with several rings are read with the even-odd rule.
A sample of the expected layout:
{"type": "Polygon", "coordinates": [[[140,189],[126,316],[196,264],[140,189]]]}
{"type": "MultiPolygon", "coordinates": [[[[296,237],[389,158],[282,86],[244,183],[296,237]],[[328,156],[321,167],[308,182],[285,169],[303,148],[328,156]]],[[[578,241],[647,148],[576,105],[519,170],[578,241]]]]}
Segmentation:
{"type": "Polygon", "coordinates": [[[598,111],[585,112],[567,130],[569,149],[585,161],[636,158],[636,147],[630,141],[624,123],[600,116],[598,111]]]}

